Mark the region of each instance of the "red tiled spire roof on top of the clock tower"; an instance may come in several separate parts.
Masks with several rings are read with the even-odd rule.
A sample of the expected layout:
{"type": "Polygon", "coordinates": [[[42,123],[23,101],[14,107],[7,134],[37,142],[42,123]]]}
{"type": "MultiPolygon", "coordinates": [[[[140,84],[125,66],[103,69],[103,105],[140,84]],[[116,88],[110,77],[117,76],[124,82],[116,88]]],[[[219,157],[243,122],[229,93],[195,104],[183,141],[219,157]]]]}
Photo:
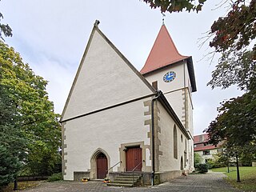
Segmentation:
{"type": "Polygon", "coordinates": [[[157,70],[163,66],[169,66],[175,62],[182,61],[183,59],[190,58],[178,53],[173,40],[168,33],[166,26],[162,25],[158,37],[154,42],[154,46],[150,51],[146,63],[140,71],[141,74],[147,74],[150,71],[157,70]]]}

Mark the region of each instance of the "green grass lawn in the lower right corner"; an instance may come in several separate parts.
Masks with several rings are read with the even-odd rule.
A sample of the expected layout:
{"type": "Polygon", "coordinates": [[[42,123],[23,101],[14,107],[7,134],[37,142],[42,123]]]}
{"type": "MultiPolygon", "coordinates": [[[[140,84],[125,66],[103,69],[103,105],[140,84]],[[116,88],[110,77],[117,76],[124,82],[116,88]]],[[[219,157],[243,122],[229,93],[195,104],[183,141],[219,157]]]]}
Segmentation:
{"type": "Polygon", "coordinates": [[[225,180],[232,186],[243,191],[256,191],[256,167],[255,166],[239,166],[239,174],[241,182],[237,182],[237,169],[230,167],[230,173],[227,173],[227,167],[211,169],[214,172],[223,172],[227,175],[225,180]]]}

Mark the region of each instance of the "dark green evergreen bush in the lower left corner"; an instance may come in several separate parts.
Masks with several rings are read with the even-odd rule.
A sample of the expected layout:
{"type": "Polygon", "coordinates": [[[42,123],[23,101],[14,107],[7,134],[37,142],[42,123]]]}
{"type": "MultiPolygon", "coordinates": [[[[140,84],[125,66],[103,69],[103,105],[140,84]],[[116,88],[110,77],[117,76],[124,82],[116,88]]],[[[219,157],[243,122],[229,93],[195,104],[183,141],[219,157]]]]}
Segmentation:
{"type": "Polygon", "coordinates": [[[0,144],[0,189],[14,181],[19,167],[18,158],[0,144]]]}

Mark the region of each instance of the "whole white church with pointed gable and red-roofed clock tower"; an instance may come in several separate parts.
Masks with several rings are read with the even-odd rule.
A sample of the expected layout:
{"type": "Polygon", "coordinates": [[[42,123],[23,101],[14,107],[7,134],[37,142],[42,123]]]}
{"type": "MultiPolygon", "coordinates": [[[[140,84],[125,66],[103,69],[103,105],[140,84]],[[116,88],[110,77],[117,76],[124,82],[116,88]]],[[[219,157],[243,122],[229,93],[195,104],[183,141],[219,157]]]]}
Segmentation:
{"type": "Polygon", "coordinates": [[[64,180],[136,173],[143,184],[194,170],[192,57],[163,24],[140,72],[95,22],[62,112],[64,180]]]}

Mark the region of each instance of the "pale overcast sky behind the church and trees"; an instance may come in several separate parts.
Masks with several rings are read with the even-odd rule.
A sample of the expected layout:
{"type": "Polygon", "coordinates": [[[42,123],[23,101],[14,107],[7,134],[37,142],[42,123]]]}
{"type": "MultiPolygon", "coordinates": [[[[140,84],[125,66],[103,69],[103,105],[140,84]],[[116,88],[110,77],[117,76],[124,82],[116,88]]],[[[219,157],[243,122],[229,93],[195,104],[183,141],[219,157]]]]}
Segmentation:
{"type": "MultiPolygon", "coordinates": [[[[217,115],[223,99],[241,94],[236,87],[211,90],[211,63],[204,55],[211,50],[198,39],[206,36],[226,8],[207,1],[196,13],[166,13],[165,25],[182,55],[193,57],[198,91],[194,100],[194,134],[202,134],[217,115]]],[[[74,75],[85,50],[94,21],[111,42],[141,70],[162,26],[162,14],[139,0],[2,0],[0,11],[13,30],[6,43],[22,55],[34,72],[49,81],[47,90],[55,111],[62,113],[74,75]]]]}

